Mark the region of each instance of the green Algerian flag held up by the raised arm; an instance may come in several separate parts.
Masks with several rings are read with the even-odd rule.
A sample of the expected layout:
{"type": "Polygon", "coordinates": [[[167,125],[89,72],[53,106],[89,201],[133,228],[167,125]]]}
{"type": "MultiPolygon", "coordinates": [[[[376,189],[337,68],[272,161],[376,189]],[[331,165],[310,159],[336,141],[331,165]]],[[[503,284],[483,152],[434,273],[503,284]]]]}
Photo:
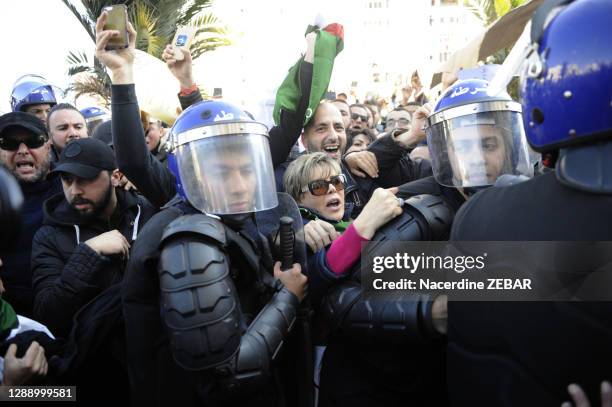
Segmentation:
{"type": "MultiPolygon", "coordinates": [[[[310,99],[308,108],[304,115],[304,125],[312,118],[314,111],[325,96],[329,87],[334,59],[344,48],[344,28],[342,25],[329,24],[324,29],[316,25],[309,25],[306,35],[311,32],[317,33],[315,42],[314,61],[312,67],[312,84],[310,86],[310,99]]],[[[300,65],[304,57],[302,56],[295,65],[289,69],[287,77],[276,92],[274,103],[274,122],[280,123],[281,110],[296,112],[302,97],[300,89],[300,65]]]]}

